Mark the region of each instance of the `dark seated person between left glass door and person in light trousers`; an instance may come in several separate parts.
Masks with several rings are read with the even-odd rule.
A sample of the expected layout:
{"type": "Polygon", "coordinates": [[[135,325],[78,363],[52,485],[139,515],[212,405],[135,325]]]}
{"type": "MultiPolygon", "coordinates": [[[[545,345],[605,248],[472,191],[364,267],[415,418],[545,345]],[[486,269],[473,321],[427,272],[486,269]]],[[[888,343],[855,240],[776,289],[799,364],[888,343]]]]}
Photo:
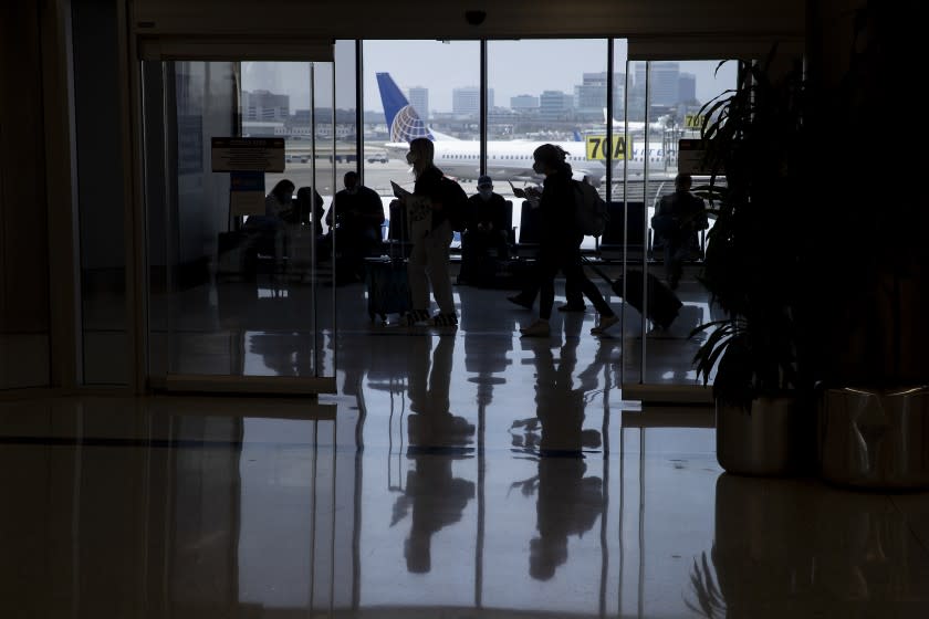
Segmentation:
{"type": "Polygon", "coordinates": [[[340,255],[336,271],[361,279],[364,259],[379,253],[384,204],[376,191],[358,182],[357,172],[345,172],[343,182],[345,189],[333,198],[326,224],[340,255]]]}

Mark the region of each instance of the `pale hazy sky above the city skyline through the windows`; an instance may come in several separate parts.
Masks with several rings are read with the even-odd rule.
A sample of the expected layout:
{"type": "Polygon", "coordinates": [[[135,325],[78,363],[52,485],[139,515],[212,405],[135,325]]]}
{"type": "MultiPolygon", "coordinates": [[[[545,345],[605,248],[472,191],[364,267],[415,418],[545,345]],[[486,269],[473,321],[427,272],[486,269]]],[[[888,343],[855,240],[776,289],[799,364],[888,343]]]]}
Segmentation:
{"type": "MultiPolygon", "coordinates": [[[[351,43],[351,42],[349,42],[351,43]]],[[[380,109],[375,73],[387,72],[406,93],[413,86],[429,88],[432,112],[451,112],[452,90],[477,86],[480,81],[480,51],[477,41],[365,41],[365,109],[380,109]]],[[[614,50],[617,73],[626,71],[626,48],[617,40],[614,50]]],[[[537,96],[542,91],[574,93],[584,73],[606,71],[606,40],[520,40],[488,43],[488,86],[494,104],[508,107],[510,97],[537,96]]],[[[734,85],[735,63],[718,61],[680,62],[680,71],[697,76],[697,98],[706,103],[734,85]]],[[[352,84],[354,44],[336,45],[338,84],[352,84]]],[[[316,101],[328,106],[332,65],[314,65],[316,101]]],[[[264,88],[291,95],[291,111],[309,107],[309,63],[243,63],[244,90],[264,88]]],[[[353,107],[351,86],[337,93],[337,107],[353,107]]]]}

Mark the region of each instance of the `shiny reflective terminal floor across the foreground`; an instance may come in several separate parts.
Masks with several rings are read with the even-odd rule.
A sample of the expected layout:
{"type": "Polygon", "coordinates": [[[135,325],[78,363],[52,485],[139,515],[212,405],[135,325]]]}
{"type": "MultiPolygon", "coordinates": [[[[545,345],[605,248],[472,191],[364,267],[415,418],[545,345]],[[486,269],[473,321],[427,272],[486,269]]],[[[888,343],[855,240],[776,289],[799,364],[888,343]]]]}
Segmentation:
{"type": "Polygon", "coordinates": [[[3,617],[929,617],[928,493],[724,474],[530,317],[349,325],[319,401],[0,402],[3,617]]]}

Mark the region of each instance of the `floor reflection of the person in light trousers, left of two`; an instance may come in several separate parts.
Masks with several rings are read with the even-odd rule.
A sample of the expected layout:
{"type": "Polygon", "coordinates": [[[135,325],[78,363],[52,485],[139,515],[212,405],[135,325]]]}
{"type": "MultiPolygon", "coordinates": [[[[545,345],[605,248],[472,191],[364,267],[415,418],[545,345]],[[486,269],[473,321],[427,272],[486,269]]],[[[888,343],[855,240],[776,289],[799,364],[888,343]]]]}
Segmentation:
{"type": "Polygon", "coordinates": [[[432,535],[461,520],[474,497],[474,482],[456,478],[455,458],[466,457],[474,426],[449,412],[455,337],[442,336],[435,352],[432,337],[410,340],[408,419],[409,450],[414,470],[407,473],[404,495],[394,505],[392,525],[411,511],[410,532],[404,544],[407,569],[426,573],[431,568],[432,535]],[[431,353],[431,369],[430,369],[431,353]]]}

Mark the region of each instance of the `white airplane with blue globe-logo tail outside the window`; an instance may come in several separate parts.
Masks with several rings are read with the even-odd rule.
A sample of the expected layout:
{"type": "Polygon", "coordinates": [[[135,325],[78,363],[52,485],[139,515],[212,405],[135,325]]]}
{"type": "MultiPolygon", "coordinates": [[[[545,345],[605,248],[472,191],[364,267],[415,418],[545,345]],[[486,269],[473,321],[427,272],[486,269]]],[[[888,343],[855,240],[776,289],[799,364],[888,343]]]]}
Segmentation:
{"type": "MultiPolygon", "coordinates": [[[[428,127],[409,104],[406,96],[390,77],[389,73],[377,73],[377,86],[380,91],[380,103],[384,106],[384,119],[390,132],[389,141],[384,146],[400,159],[409,150],[409,141],[426,137],[435,145],[434,162],[445,174],[459,179],[476,179],[480,175],[480,141],[457,139],[440,134],[428,127]]],[[[574,141],[550,141],[567,153],[573,176],[577,180],[586,180],[594,187],[602,183],[606,175],[605,160],[588,158],[588,139],[575,133],[574,141]]],[[[603,136],[594,136],[594,139],[603,136]]],[[[488,140],[487,143],[487,174],[494,180],[524,180],[539,182],[542,177],[532,169],[532,153],[545,141],[512,139],[488,140]]],[[[643,144],[635,144],[627,166],[641,168],[643,144]]],[[[664,156],[661,145],[649,147],[649,160],[659,161],[664,156]]],[[[622,174],[623,161],[617,161],[622,174]]]]}

